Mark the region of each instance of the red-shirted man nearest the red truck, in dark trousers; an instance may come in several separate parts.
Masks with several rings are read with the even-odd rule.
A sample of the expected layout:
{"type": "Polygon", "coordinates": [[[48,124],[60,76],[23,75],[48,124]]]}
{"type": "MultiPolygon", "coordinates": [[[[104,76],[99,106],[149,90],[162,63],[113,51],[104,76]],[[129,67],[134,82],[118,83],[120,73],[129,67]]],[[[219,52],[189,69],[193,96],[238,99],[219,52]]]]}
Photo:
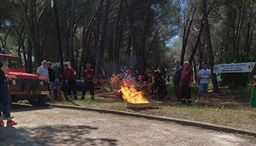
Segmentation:
{"type": "Polygon", "coordinates": [[[73,92],[73,96],[75,100],[78,100],[78,93],[76,88],[76,74],[75,69],[72,67],[67,66],[67,64],[64,64],[64,74],[67,79],[67,95],[69,96],[69,100],[71,101],[72,94],[71,90],[73,92]]]}

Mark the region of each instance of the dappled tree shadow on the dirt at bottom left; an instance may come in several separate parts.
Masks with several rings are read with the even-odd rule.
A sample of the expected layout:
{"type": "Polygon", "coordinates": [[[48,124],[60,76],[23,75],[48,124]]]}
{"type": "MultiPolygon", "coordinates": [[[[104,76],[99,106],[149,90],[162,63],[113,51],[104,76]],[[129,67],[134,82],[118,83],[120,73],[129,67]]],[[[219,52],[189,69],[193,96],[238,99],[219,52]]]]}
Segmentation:
{"type": "MultiPolygon", "coordinates": [[[[58,121],[56,121],[58,122],[58,121]]],[[[91,126],[42,126],[37,128],[0,127],[0,143],[5,145],[117,145],[116,139],[91,139],[91,126]]]]}

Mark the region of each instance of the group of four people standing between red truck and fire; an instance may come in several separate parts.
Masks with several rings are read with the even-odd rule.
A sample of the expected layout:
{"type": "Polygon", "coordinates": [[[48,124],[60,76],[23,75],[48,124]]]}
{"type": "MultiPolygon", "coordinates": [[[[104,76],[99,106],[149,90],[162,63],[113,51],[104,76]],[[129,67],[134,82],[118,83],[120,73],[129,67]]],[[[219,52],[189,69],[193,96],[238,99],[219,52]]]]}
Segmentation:
{"type": "MultiPolygon", "coordinates": [[[[56,86],[61,88],[61,91],[64,93],[67,92],[65,95],[66,101],[72,101],[72,99],[78,100],[78,93],[76,87],[76,75],[77,72],[72,67],[69,67],[68,64],[64,64],[64,74],[66,77],[67,82],[65,84],[63,82],[63,78],[59,78],[56,80],[55,73],[51,68],[52,64],[50,61],[42,61],[42,66],[37,68],[37,75],[39,77],[46,77],[48,80],[48,88],[50,91],[50,99],[53,99],[53,88],[56,86]],[[58,83],[56,85],[56,82],[58,83]],[[72,97],[73,96],[73,97],[72,97]]],[[[83,93],[81,99],[85,99],[86,92],[89,90],[91,93],[91,99],[94,100],[94,78],[95,72],[91,69],[91,64],[86,64],[86,70],[83,71],[83,93]]]]}

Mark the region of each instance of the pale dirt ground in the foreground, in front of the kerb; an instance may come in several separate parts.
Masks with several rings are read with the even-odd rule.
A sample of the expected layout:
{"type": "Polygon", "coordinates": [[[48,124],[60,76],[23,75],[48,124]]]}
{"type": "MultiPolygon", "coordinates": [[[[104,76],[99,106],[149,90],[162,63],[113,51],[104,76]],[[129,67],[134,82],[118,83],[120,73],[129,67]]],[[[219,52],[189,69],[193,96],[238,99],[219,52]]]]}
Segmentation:
{"type": "Polygon", "coordinates": [[[15,105],[12,116],[18,126],[0,127],[1,146],[256,145],[255,137],[98,112],[15,105]]]}

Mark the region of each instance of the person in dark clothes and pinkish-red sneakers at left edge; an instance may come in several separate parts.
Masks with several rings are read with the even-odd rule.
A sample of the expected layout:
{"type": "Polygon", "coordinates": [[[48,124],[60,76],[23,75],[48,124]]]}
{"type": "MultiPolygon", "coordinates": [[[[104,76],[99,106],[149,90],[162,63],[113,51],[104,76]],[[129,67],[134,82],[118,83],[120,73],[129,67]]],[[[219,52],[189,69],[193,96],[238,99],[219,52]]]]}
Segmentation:
{"type": "MultiPolygon", "coordinates": [[[[10,113],[10,91],[8,87],[7,77],[5,74],[9,73],[9,62],[7,60],[0,61],[0,105],[2,104],[4,117],[7,118],[7,126],[17,125],[11,118],[10,113]]],[[[4,120],[1,117],[0,111],[0,126],[4,126],[4,120]]]]}

